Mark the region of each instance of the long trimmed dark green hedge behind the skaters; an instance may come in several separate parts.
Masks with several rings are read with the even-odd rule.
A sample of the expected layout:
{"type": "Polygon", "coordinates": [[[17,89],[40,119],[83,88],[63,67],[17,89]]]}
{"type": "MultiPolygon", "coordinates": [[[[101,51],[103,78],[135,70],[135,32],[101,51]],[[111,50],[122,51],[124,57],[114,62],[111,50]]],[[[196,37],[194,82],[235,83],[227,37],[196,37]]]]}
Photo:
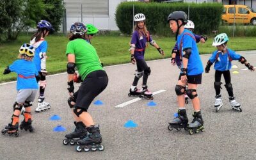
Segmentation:
{"type": "Polygon", "coordinates": [[[176,10],[188,14],[195,23],[195,33],[211,34],[218,29],[221,22],[223,6],[220,3],[140,3],[124,2],[116,8],[116,25],[124,34],[132,33],[132,10],[134,15],[143,13],[146,16],[147,28],[152,34],[170,36],[170,28],[166,21],[168,15],[176,10]]]}

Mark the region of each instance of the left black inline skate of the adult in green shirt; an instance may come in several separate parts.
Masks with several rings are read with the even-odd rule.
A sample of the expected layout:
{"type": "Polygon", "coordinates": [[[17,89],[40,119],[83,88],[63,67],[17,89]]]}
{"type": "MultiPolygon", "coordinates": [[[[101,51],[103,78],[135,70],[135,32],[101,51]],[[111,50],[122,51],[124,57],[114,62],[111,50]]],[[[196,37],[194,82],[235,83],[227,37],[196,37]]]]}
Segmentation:
{"type": "Polygon", "coordinates": [[[75,131],[66,134],[66,139],[62,141],[63,145],[68,145],[68,143],[75,145],[78,140],[82,140],[86,136],[87,131],[83,122],[74,122],[74,124],[76,125],[75,131]]]}

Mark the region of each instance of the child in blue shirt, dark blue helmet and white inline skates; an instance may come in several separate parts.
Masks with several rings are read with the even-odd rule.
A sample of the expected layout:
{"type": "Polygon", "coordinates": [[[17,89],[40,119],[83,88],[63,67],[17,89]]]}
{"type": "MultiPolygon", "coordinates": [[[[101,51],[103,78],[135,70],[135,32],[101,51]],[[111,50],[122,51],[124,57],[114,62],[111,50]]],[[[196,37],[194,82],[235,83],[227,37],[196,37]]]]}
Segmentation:
{"type": "Polygon", "coordinates": [[[34,35],[31,36],[30,44],[35,47],[35,58],[33,62],[36,65],[38,70],[38,77],[36,77],[36,81],[40,81],[40,89],[39,89],[39,97],[38,97],[38,105],[35,111],[39,113],[40,111],[45,111],[51,108],[49,102],[45,102],[44,92],[46,87],[46,79],[45,76],[47,74],[46,71],[46,52],[47,52],[47,41],[45,37],[49,34],[49,32],[54,29],[52,25],[47,20],[40,20],[37,24],[37,31],[34,35]]]}

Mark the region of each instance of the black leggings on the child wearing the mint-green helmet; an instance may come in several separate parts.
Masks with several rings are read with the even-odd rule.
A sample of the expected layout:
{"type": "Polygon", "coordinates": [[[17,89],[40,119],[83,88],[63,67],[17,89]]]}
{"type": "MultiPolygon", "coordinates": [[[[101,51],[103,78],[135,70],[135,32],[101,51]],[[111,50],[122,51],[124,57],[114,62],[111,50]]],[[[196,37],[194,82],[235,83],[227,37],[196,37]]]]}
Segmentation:
{"type": "MultiPolygon", "coordinates": [[[[221,75],[223,74],[224,76],[224,79],[225,79],[225,87],[227,88],[227,92],[228,92],[228,95],[230,97],[233,97],[233,89],[232,89],[232,85],[231,85],[231,76],[230,76],[230,71],[229,70],[225,70],[225,71],[220,71],[220,70],[216,70],[215,71],[215,82],[216,83],[220,83],[221,82],[221,75]],[[229,84],[227,86],[227,84],[229,84]],[[231,85],[231,87],[230,87],[231,85]]],[[[220,95],[220,87],[214,87],[215,88],[215,92],[216,92],[216,95],[220,95]]]]}

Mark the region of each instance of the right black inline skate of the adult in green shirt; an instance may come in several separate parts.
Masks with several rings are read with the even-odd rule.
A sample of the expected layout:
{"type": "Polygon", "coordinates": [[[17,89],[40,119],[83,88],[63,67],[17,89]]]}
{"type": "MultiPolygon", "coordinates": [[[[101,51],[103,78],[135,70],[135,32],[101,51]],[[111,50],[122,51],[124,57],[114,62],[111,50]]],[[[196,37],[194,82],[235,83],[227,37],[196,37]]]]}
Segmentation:
{"type": "Polygon", "coordinates": [[[87,134],[83,140],[78,141],[76,151],[81,152],[84,150],[85,152],[88,152],[90,150],[104,150],[104,145],[100,144],[102,142],[102,138],[99,127],[91,126],[89,127],[88,131],[89,134],[87,134]]]}

